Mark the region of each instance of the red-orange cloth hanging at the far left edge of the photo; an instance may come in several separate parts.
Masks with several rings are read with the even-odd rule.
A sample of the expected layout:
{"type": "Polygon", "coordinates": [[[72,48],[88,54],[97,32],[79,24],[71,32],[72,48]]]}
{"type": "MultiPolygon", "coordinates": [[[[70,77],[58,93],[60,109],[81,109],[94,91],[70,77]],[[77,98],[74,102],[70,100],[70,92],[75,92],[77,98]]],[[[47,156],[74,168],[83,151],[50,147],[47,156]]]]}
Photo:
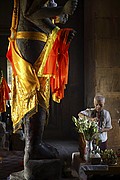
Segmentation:
{"type": "Polygon", "coordinates": [[[6,112],[6,100],[9,100],[10,88],[5,80],[2,77],[2,82],[0,83],[0,112],[6,112]]]}

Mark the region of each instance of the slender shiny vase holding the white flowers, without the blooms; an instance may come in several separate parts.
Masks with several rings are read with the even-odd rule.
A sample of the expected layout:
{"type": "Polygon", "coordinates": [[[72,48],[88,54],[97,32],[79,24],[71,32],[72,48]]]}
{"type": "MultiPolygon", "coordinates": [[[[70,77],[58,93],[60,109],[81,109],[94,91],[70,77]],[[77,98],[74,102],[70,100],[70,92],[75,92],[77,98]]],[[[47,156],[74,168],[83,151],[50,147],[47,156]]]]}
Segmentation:
{"type": "Polygon", "coordinates": [[[92,140],[86,141],[86,151],[85,151],[85,160],[86,163],[90,163],[90,155],[93,150],[92,140]]]}

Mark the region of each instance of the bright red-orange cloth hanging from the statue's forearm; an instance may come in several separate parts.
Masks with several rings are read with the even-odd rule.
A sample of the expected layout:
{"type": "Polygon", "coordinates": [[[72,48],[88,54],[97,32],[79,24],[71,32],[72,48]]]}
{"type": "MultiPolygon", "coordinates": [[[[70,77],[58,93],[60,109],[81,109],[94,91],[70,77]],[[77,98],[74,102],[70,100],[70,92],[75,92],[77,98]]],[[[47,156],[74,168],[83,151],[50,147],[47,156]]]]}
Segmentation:
{"type": "Polygon", "coordinates": [[[49,54],[43,74],[51,76],[50,85],[52,94],[57,99],[64,97],[65,84],[68,82],[69,56],[67,43],[71,29],[61,29],[58,32],[53,48],[49,54]]]}

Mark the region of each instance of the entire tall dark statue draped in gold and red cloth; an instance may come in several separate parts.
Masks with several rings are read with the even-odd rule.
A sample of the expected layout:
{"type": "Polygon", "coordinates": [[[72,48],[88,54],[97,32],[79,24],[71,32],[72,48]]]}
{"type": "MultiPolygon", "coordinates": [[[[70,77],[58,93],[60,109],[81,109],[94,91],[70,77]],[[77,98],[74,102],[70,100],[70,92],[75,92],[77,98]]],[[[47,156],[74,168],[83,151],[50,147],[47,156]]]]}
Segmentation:
{"type": "Polygon", "coordinates": [[[66,23],[77,3],[78,0],[68,0],[64,6],[57,6],[54,0],[14,0],[6,56],[13,69],[14,132],[22,122],[25,127],[24,164],[30,159],[59,156],[42,138],[49,117],[50,86],[54,101],[59,103],[64,97],[68,48],[75,35],[73,29],[60,29],[56,22],[66,23]]]}

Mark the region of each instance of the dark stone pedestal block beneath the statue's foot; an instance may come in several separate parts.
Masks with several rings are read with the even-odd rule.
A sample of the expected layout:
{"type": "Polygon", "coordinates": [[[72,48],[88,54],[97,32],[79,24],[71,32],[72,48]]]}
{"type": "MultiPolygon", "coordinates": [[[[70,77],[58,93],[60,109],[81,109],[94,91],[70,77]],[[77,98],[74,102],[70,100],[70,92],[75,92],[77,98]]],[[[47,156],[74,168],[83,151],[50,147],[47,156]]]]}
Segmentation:
{"type": "Polygon", "coordinates": [[[60,180],[60,177],[60,160],[44,159],[30,160],[23,171],[12,173],[10,180],[60,180]]]}

